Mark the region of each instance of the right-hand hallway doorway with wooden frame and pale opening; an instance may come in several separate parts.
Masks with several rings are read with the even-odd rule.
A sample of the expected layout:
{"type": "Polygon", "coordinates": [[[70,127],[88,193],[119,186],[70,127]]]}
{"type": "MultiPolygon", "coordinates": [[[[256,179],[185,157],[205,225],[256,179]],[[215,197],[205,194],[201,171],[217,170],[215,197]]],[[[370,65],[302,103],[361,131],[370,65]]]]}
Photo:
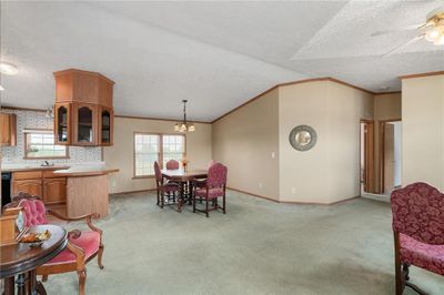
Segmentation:
{"type": "Polygon", "coordinates": [[[390,195],[393,190],[401,187],[401,120],[380,121],[380,185],[382,194],[390,195]]]}

